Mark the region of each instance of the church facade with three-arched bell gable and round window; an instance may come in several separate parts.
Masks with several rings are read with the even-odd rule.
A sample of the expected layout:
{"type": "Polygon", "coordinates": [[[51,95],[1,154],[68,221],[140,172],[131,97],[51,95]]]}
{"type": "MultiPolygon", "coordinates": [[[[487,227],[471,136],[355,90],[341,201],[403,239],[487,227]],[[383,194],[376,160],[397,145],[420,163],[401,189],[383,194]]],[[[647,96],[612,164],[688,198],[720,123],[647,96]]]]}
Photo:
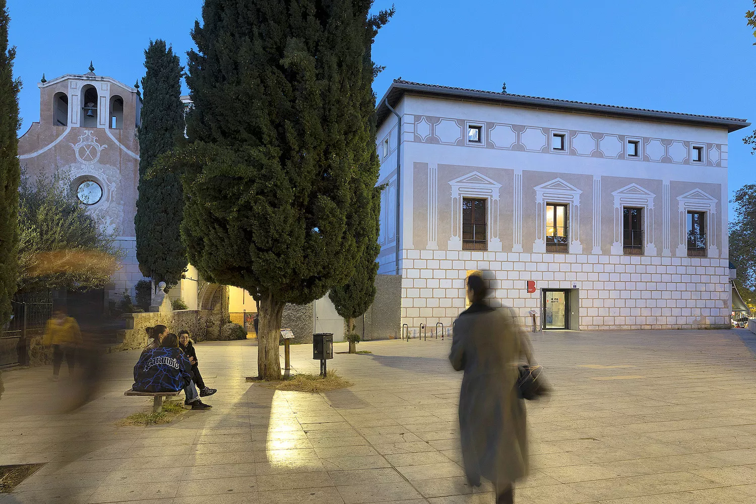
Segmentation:
{"type": "Polygon", "coordinates": [[[141,97],[137,88],[98,76],[67,74],[39,82],[39,122],[18,141],[19,161],[30,178],[64,172],[70,190],[92,217],[116,237],[125,253],[107,295],[134,295],[142,280],[136,260],[141,97]]]}

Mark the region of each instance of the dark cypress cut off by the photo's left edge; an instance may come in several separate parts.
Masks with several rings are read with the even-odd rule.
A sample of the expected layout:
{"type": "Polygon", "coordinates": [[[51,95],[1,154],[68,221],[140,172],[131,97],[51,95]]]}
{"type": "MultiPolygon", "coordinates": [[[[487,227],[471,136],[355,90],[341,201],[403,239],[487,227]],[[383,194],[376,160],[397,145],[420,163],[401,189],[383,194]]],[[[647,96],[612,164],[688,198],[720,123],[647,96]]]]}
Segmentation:
{"type": "Polygon", "coordinates": [[[18,91],[21,81],[13,77],[16,48],[8,45],[8,16],[0,0],[0,326],[11,318],[11,299],[18,275],[18,91]]]}

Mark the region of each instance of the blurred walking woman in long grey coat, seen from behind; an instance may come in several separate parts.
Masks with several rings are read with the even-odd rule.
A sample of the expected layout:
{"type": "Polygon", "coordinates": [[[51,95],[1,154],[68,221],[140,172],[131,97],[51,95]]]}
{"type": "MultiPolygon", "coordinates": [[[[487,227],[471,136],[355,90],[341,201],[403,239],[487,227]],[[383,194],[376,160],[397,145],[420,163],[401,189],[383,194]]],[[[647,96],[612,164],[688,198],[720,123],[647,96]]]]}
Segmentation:
{"type": "Polygon", "coordinates": [[[467,279],[471,301],[454,322],[449,360],[464,371],[460,390],[460,436],[469,484],[494,484],[497,504],[514,502],[514,483],[528,474],[525,404],[516,383],[518,363],[531,363],[530,341],[509,308],[485,304],[486,281],[467,279]]]}

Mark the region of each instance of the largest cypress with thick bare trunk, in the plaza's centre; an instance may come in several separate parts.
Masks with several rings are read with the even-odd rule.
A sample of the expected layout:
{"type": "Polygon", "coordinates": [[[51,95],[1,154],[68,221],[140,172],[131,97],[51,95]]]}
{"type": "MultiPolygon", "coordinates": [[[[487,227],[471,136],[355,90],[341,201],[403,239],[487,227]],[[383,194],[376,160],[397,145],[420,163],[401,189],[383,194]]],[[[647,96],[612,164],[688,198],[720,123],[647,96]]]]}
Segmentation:
{"type": "Polygon", "coordinates": [[[184,245],[208,280],[259,296],[258,374],[280,379],[283,306],[345,283],[378,178],[372,0],[206,0],[187,84],[184,245]]]}

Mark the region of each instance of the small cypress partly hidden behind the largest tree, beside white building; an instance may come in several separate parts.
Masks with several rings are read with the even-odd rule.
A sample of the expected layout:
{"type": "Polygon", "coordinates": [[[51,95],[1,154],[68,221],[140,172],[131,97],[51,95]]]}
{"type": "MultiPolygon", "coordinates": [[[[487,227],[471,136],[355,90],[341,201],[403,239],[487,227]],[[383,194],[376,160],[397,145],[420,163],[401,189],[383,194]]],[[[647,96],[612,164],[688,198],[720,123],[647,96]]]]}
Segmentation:
{"type": "Polygon", "coordinates": [[[355,261],[354,273],[349,280],[340,286],[333,287],[328,292],[333,305],[336,307],[336,313],[347,320],[349,327],[349,353],[355,354],[357,351],[358,339],[355,339],[355,318],[362,315],[373,304],[376,297],[375,279],[378,273],[378,263],[376,258],[380,253],[378,244],[378,231],[380,226],[380,188],[373,190],[373,226],[366,226],[362,230],[361,236],[358,237],[358,243],[364,243],[364,252],[361,257],[355,261]]]}

